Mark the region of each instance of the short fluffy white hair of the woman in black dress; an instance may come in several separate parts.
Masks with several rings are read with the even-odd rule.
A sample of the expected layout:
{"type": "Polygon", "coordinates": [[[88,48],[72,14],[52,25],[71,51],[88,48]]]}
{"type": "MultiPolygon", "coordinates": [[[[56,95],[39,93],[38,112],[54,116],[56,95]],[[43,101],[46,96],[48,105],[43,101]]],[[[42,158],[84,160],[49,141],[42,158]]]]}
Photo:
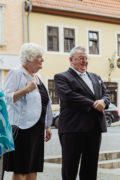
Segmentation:
{"type": "Polygon", "coordinates": [[[24,43],[20,50],[21,64],[26,64],[27,61],[33,61],[37,56],[42,56],[45,53],[44,49],[35,43],[24,43]]]}

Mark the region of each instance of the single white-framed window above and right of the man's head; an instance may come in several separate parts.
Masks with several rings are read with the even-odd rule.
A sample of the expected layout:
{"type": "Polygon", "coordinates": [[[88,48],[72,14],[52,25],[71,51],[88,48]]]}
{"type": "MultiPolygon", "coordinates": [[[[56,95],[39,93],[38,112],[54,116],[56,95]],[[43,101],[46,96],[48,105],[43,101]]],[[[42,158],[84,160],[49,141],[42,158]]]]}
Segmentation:
{"type": "Polygon", "coordinates": [[[89,54],[99,54],[99,33],[96,31],[88,32],[89,54]]]}

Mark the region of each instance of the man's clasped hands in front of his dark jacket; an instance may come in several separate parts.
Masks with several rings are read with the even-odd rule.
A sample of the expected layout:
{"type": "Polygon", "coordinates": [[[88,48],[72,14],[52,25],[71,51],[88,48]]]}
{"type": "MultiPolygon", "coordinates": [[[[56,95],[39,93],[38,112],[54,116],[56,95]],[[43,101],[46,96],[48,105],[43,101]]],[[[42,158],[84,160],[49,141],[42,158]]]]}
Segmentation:
{"type": "Polygon", "coordinates": [[[93,107],[102,113],[104,113],[105,106],[106,106],[106,104],[103,99],[96,100],[93,104],[93,107]]]}

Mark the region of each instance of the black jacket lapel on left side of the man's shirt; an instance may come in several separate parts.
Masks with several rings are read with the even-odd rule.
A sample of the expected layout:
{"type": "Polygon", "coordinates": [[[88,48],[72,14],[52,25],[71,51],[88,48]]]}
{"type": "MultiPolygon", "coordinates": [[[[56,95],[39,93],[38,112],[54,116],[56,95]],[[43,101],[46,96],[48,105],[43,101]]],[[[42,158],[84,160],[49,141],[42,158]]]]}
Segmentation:
{"type": "Polygon", "coordinates": [[[80,84],[78,83],[78,85],[82,86],[84,91],[86,91],[86,93],[88,93],[92,97],[95,97],[91,89],[87,86],[87,84],[83,81],[83,79],[73,69],[69,68],[68,72],[72,74],[72,76],[77,80],[77,82],[80,83],[80,84]]]}

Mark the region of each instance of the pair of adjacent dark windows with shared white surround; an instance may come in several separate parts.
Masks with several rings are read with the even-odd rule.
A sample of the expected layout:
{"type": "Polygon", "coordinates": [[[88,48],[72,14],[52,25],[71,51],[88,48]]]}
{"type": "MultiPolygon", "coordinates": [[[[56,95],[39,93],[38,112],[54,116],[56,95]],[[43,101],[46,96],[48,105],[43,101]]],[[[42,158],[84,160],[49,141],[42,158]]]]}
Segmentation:
{"type": "Polygon", "coordinates": [[[69,53],[78,43],[77,27],[62,24],[45,24],[47,53],[69,53]]]}

